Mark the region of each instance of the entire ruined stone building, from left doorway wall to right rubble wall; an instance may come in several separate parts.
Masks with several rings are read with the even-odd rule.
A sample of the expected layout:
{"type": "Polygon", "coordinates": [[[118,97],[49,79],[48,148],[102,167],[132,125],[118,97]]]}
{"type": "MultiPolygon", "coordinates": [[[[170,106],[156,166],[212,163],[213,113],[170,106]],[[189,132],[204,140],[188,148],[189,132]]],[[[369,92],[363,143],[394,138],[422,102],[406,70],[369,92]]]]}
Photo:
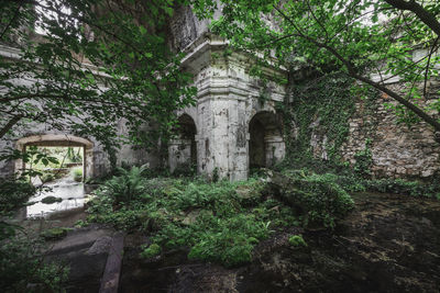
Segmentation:
{"type": "MultiPolygon", "coordinates": [[[[286,153],[283,123],[275,111],[276,102],[286,98],[286,88],[275,81],[262,86],[249,72],[253,60],[245,54],[224,54],[227,43],[208,32],[208,22],[199,21],[190,8],[180,8],[169,22],[169,45],[186,53],[184,70],[195,77],[198,89],[197,104],[178,113],[179,133],[168,146],[170,170],[179,166],[197,166],[200,174],[230,180],[246,179],[252,167],[270,167],[282,160],[286,153]],[[265,101],[260,99],[264,91],[265,101]]],[[[1,47],[1,54],[15,54],[1,47]]],[[[8,55],[8,56],[9,56],[8,55]]],[[[286,77],[275,67],[265,68],[267,77],[286,77]]],[[[386,99],[386,97],[384,98],[386,99]]],[[[350,137],[343,146],[344,159],[353,162],[354,154],[364,147],[362,103],[350,122],[350,137]]],[[[440,169],[440,146],[432,131],[420,124],[407,129],[396,126],[393,114],[381,106],[382,115],[377,138],[372,142],[373,171],[378,176],[432,177],[440,169]]],[[[310,127],[315,127],[311,125],[310,127]]],[[[123,123],[120,133],[127,132],[123,123]]],[[[94,138],[75,137],[33,125],[20,129],[20,137],[8,137],[0,148],[22,149],[26,145],[59,145],[73,142],[85,148],[87,177],[98,177],[109,170],[107,154],[94,138]]],[[[326,156],[326,134],[314,133],[310,147],[317,157],[326,156]]],[[[150,162],[157,157],[123,146],[119,162],[131,165],[150,162]]],[[[1,164],[1,162],[0,162],[1,164]]],[[[18,162],[20,166],[20,162],[18,162]]],[[[13,173],[13,162],[0,166],[0,176],[13,173]]]]}

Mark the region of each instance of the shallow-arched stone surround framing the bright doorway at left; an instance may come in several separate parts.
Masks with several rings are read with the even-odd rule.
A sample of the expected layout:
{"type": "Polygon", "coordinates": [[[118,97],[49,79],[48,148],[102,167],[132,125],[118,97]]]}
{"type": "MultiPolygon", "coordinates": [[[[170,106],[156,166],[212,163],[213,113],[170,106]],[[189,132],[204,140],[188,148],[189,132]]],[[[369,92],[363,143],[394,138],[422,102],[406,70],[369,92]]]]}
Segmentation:
{"type": "MultiPolygon", "coordinates": [[[[82,181],[94,178],[94,143],[89,139],[63,134],[32,135],[16,140],[16,149],[26,151],[30,146],[40,147],[80,147],[82,148],[82,181]]],[[[15,161],[15,171],[23,170],[25,164],[22,160],[15,161]]]]}

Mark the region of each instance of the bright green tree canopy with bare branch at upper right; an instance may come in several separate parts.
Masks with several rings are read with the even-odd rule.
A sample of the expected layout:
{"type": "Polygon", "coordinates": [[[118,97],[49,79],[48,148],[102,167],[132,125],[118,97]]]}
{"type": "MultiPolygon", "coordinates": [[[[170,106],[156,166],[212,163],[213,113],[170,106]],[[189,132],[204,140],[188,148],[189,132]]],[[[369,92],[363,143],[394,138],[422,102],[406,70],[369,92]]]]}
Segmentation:
{"type": "MultiPolygon", "coordinates": [[[[217,8],[195,2],[200,16],[217,8]]],[[[440,132],[439,92],[430,88],[440,69],[439,2],[221,0],[220,8],[211,29],[235,48],[275,56],[292,70],[342,71],[396,100],[389,106],[400,121],[422,120],[440,132]],[[389,87],[392,79],[405,90],[389,87]]]]}

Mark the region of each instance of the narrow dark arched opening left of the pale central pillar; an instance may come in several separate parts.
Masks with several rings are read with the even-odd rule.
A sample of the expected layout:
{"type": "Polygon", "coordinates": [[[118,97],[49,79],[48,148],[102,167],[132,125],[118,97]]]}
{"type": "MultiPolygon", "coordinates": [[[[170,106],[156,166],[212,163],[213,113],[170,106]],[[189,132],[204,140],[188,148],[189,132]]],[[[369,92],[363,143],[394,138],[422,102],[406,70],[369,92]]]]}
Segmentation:
{"type": "Polygon", "coordinates": [[[178,117],[175,128],[175,138],[169,142],[169,170],[170,172],[187,170],[197,167],[197,126],[193,117],[183,114],[178,117]]]}

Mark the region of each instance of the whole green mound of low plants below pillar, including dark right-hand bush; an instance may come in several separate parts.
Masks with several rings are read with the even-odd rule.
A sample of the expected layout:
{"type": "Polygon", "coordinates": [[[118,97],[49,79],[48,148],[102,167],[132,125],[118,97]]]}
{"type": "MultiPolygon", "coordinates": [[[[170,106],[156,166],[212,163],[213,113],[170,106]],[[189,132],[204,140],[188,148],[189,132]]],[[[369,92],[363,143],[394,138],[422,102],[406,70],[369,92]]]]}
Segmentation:
{"type": "Polygon", "coordinates": [[[277,196],[264,178],[243,182],[148,179],[133,167],[96,192],[88,221],[150,235],[143,257],[179,248],[187,249],[189,259],[232,267],[251,261],[255,245],[278,229],[307,226],[311,219],[315,225],[333,227],[353,207],[334,182],[316,176],[296,180],[302,185],[292,192],[304,200],[305,211],[277,196]]]}

